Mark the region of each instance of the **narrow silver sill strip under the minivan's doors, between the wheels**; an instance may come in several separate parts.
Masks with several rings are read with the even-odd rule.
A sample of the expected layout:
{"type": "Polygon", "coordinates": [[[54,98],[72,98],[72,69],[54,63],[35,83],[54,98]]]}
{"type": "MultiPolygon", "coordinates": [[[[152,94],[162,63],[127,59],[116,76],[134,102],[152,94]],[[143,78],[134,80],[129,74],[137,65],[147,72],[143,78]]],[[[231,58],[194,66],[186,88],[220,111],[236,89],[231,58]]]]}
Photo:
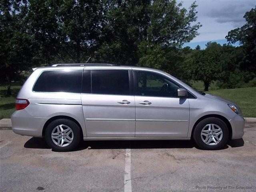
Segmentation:
{"type": "Polygon", "coordinates": [[[190,140],[186,137],[84,137],[84,141],[96,140],[190,140]]]}

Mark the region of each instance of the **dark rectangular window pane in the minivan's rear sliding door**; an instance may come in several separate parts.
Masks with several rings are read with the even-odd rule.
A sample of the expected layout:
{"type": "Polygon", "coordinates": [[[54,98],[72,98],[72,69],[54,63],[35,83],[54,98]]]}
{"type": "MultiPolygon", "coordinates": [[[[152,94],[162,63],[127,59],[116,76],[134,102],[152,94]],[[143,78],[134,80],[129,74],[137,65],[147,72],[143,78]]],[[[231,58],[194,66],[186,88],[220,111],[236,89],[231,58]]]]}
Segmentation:
{"type": "Polygon", "coordinates": [[[92,93],[129,95],[128,70],[92,70],[92,93]]]}

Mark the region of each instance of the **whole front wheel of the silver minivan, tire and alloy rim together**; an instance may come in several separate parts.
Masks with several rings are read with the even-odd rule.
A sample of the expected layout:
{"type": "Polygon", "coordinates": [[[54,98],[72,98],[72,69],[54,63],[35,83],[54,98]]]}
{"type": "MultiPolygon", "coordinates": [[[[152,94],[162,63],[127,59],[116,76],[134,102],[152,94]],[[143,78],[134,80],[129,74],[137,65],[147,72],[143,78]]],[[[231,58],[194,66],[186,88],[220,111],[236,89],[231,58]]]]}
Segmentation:
{"type": "Polygon", "coordinates": [[[218,150],[228,141],[228,127],[219,118],[206,118],[196,125],[193,138],[201,149],[218,150]]]}

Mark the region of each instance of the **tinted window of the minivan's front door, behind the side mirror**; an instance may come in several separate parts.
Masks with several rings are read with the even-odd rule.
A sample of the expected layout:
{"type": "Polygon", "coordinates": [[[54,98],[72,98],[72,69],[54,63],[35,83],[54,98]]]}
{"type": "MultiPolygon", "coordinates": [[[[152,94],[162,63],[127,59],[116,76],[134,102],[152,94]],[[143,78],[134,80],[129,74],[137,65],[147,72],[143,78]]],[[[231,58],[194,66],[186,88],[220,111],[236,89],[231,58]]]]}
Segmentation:
{"type": "Polygon", "coordinates": [[[136,71],[136,95],[178,97],[178,84],[168,78],[151,72],[136,71]]]}

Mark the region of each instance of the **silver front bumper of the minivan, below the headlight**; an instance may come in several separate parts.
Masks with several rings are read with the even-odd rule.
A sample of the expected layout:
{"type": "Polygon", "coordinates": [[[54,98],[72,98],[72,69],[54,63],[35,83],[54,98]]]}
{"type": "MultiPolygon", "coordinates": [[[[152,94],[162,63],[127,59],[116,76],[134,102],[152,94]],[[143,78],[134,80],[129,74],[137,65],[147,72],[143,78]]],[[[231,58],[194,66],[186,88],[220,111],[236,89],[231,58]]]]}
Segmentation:
{"type": "Polygon", "coordinates": [[[232,138],[240,139],[244,136],[244,124],[245,119],[242,116],[236,115],[234,118],[229,120],[232,127],[232,138]]]}

